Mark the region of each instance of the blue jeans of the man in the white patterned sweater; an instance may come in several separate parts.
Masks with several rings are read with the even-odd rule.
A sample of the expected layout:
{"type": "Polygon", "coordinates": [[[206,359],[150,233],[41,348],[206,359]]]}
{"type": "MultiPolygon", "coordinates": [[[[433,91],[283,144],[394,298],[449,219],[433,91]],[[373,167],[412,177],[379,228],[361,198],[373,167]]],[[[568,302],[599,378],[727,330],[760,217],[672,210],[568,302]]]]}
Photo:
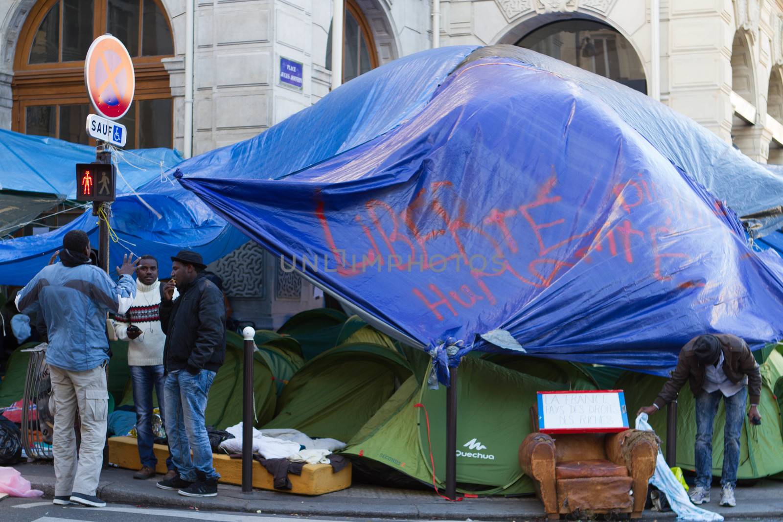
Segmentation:
{"type": "MultiPolygon", "coordinates": [[[[136,434],[137,444],[139,445],[139,460],[142,466],[155,468],[157,459],[153,452],[155,435],[152,431],[153,404],[152,391],[157,394],[157,404],[161,409],[161,419],[164,419],[164,397],[163,385],[165,376],[163,374],[163,365],[156,366],[129,366],[131,369],[131,380],[133,383],[133,403],[136,409],[136,434]]],[[[166,459],[166,466],[173,470],[171,463],[171,453],[166,459]]]]}

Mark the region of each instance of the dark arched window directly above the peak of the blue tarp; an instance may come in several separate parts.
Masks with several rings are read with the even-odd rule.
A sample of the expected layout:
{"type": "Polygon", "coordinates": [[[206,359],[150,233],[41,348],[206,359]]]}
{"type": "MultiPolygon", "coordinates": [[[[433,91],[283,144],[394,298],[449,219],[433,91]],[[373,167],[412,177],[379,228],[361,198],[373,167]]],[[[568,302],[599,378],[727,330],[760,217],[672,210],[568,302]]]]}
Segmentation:
{"type": "Polygon", "coordinates": [[[539,27],[517,42],[576,67],[647,94],[647,79],[639,56],[614,27],[592,20],[561,20],[539,27]]]}

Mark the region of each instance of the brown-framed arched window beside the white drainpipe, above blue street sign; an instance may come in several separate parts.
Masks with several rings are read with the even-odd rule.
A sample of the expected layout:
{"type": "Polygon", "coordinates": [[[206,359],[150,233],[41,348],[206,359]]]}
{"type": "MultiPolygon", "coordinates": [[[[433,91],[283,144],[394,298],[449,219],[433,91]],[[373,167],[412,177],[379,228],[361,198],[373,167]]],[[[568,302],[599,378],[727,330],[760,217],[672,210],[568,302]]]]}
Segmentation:
{"type": "MultiPolygon", "coordinates": [[[[345,1],[345,20],[343,20],[343,75],[345,83],[359,74],[378,67],[378,55],[375,50],[370,23],[354,0],[345,1]]],[[[332,70],[332,29],[327,39],[327,69],[332,70]]]]}

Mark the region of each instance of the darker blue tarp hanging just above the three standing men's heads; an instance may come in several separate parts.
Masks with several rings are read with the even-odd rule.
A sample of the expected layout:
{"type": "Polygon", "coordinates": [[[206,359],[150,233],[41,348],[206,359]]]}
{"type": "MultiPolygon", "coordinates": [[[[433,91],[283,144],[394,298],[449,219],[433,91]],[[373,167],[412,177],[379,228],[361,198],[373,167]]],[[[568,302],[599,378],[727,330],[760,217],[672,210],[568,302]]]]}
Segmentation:
{"type": "MultiPolygon", "coordinates": [[[[118,196],[112,203],[110,224],[119,243],[110,244],[111,272],[122,264],[124,254],[133,253],[157,257],[161,276],[168,275],[169,257],[183,248],[199,252],[210,263],[247,242],[246,236],[192,193],[171,179],[156,177],[141,186],[139,194],[161,214],[160,219],[136,196],[118,196]]],[[[74,229],[88,232],[92,246],[98,245],[98,218],[92,210],[52,232],[0,241],[0,284],[26,284],[62,247],[63,236],[74,229]]]]}

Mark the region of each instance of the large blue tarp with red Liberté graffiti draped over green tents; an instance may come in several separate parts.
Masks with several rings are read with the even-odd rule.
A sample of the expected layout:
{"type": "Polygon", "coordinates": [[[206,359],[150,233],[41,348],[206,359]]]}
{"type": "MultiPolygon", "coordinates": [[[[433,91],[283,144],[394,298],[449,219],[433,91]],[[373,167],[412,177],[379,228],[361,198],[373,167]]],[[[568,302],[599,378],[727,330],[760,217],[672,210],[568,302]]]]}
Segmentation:
{"type": "MultiPolygon", "coordinates": [[[[695,182],[725,189],[736,172],[721,169],[744,166],[742,157],[709,133],[668,133],[667,124],[688,127],[659,105],[648,114],[663,120],[658,130],[637,128],[644,108],[634,116],[569,79],[576,74],[518,57],[474,52],[428,92],[448,68],[435,63],[466,53],[437,49],[373,70],[268,131],[290,140],[257,137],[175,175],[247,236],[300,270],[305,258],[307,277],[421,347],[452,337],[499,350],[479,336],[501,329],[533,355],[663,375],[700,333],[731,332],[755,347],[781,338],[783,265],[750,250],[734,211],[695,182]],[[356,110],[367,89],[385,105],[356,110]],[[369,133],[366,110],[385,118],[369,133]],[[313,152],[320,142],[298,141],[297,128],[346,146],[313,152]],[[346,128],[366,141],[346,141],[346,128]],[[686,155],[677,142],[695,144],[699,162],[673,157],[686,155]],[[706,162],[711,150],[720,164],[706,162]],[[307,159],[270,164],[291,151],[307,159]],[[694,165],[712,170],[685,170],[694,165]]],[[[768,186],[779,200],[780,186],[768,186]]]]}

